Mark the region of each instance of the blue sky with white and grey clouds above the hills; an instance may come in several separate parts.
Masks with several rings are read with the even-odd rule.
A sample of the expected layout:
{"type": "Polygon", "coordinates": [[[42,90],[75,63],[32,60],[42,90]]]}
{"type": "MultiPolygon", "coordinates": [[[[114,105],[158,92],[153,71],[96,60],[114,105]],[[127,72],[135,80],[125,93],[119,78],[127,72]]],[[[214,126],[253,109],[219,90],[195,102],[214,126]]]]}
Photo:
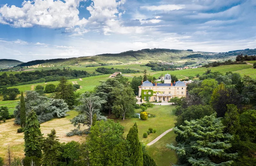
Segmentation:
{"type": "Polygon", "coordinates": [[[256,0],[0,0],[0,59],[256,48],[256,0]]]}

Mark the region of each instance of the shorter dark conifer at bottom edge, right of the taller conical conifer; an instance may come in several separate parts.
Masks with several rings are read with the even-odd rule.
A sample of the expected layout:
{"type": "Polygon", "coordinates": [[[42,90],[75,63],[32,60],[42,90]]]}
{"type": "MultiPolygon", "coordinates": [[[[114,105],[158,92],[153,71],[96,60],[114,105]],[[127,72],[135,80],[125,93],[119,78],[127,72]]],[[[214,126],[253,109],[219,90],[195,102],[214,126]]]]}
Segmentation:
{"type": "Polygon", "coordinates": [[[42,149],[44,152],[42,158],[43,166],[55,166],[58,165],[60,161],[61,153],[61,144],[59,139],[56,136],[56,131],[51,130],[50,134],[47,134],[47,137],[43,140],[42,149]]]}

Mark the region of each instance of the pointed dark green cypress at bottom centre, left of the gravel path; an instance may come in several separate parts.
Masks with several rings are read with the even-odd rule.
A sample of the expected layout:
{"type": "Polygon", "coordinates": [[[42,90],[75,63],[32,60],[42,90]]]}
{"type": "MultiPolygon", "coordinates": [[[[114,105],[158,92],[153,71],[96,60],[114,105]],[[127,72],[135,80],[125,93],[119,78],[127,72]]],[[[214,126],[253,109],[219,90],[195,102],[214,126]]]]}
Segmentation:
{"type": "Polygon", "coordinates": [[[130,161],[133,166],[143,166],[143,153],[139,140],[138,127],[135,123],[129,130],[126,140],[130,145],[130,161]]]}

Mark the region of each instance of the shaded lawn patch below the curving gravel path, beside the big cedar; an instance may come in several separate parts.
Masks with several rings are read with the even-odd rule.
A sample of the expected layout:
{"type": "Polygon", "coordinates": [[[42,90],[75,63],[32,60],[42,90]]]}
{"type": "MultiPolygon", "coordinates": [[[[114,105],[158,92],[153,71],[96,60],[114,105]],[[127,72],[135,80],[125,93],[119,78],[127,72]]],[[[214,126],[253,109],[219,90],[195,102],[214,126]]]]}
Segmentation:
{"type": "Polygon", "coordinates": [[[170,166],[178,163],[178,156],[176,152],[166,148],[166,144],[173,143],[174,146],[177,145],[175,141],[176,134],[174,131],[168,132],[160,140],[158,140],[153,145],[146,148],[148,155],[150,155],[156,162],[158,166],[170,166]]]}

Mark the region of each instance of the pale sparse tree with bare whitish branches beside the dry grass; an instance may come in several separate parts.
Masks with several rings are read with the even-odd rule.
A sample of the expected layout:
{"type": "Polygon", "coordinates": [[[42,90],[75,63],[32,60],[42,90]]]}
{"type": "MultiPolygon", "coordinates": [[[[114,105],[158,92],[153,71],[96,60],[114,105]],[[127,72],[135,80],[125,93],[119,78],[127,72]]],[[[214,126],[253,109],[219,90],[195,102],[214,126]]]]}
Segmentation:
{"type": "Polygon", "coordinates": [[[94,114],[96,114],[96,117],[99,120],[106,120],[106,117],[100,115],[101,106],[106,103],[106,100],[89,92],[81,94],[78,100],[81,104],[75,108],[76,111],[81,112],[82,114],[79,114],[70,120],[71,123],[74,124],[74,126],[77,126],[78,129],[80,128],[81,124],[91,127],[93,122],[92,116],[94,114]]]}

